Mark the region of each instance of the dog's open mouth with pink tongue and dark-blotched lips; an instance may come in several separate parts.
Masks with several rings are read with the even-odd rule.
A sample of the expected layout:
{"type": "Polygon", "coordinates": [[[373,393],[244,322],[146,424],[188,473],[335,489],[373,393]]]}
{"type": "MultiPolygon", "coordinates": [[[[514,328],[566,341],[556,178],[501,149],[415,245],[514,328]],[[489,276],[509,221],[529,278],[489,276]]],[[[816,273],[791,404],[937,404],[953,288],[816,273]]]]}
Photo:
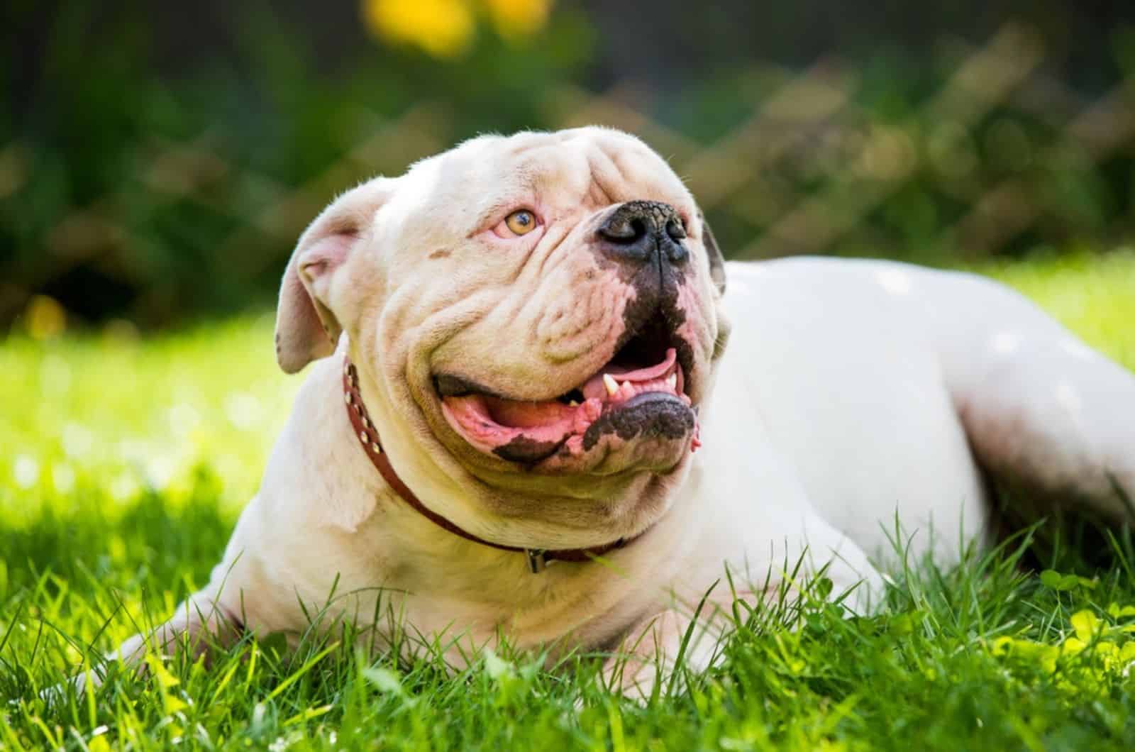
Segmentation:
{"type": "Polygon", "coordinates": [[[697,446],[697,416],[678,350],[657,332],[631,339],[598,373],[554,400],[511,400],[463,379],[435,377],[442,411],[472,446],[535,463],[581,454],[603,436],[684,440],[697,446]]]}

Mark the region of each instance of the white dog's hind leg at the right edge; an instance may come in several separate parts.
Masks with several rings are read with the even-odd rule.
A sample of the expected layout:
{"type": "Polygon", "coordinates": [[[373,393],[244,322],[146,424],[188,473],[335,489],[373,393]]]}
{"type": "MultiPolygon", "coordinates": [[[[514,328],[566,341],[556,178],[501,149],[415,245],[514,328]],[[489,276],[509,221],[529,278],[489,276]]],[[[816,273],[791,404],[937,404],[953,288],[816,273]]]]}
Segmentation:
{"type": "Polygon", "coordinates": [[[925,283],[947,386],[994,481],[1135,523],[1135,376],[1002,285],[925,283]]]}

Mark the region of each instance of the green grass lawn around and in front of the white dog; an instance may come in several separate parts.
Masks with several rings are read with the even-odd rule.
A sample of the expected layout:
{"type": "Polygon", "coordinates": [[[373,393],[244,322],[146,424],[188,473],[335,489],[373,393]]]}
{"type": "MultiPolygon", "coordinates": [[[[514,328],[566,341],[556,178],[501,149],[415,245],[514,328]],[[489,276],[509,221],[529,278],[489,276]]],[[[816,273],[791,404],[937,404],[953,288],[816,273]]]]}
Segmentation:
{"type": "MultiPolygon", "coordinates": [[[[1135,253],[993,273],[1135,367],[1135,253]]],[[[787,629],[775,609],[739,611],[721,667],[646,707],[605,693],[596,657],[545,671],[505,651],[451,676],[334,630],[297,653],[245,641],[209,668],[112,674],[47,705],[41,690],[205,580],[300,382],[271,358],[268,317],[0,343],[0,749],[1135,745],[1126,536],[1096,570],[1062,540],[1027,554],[1081,577],[1040,577],[1014,546],[892,573],[890,610],[869,619],[805,603],[787,629]]]]}

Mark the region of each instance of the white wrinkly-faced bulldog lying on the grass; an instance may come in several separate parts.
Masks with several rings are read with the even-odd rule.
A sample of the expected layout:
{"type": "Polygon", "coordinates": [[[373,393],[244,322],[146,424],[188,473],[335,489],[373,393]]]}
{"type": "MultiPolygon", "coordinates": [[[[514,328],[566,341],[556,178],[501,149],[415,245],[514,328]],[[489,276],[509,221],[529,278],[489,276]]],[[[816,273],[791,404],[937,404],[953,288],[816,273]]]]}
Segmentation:
{"type": "Polygon", "coordinates": [[[325,607],[382,637],[393,611],[454,661],[622,645],[612,682],[649,692],[726,568],[746,585],[699,629],[798,561],[864,607],[896,515],[948,562],[989,535],[984,474],[1117,525],[1135,498],[1135,378],[1027,301],[898,264],[725,265],[666,162],[605,128],[482,136],[345,193],[300,240],[276,343],[287,373],[318,362],[159,647],[325,607]]]}

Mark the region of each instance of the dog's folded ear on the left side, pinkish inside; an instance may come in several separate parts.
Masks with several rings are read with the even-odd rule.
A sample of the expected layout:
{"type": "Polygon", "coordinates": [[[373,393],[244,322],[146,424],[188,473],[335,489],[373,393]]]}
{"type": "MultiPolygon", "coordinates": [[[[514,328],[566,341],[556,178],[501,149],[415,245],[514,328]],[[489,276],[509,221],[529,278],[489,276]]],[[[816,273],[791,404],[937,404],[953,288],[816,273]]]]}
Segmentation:
{"type": "Polygon", "coordinates": [[[365,237],[395,181],[375,178],[331,202],[308,226],[284,271],[276,308],[276,361],[294,374],[335,352],[343,326],[331,301],[342,270],[365,237]]]}

